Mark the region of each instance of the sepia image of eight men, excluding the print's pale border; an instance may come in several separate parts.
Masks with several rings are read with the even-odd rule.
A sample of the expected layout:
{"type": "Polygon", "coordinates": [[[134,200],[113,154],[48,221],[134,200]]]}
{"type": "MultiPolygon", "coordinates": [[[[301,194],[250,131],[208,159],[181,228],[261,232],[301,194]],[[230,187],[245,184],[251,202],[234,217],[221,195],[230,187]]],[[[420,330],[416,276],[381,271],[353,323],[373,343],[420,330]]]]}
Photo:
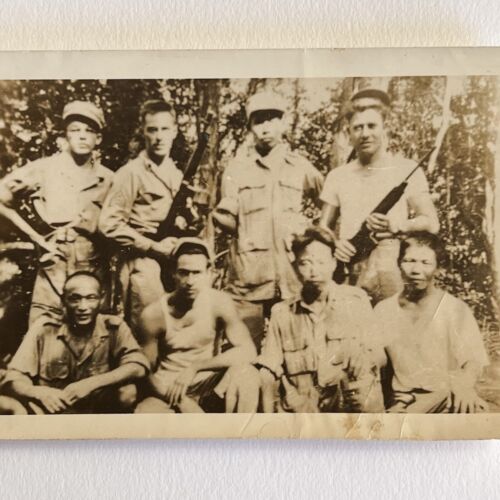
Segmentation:
{"type": "Polygon", "coordinates": [[[500,80],[393,69],[1,80],[0,414],[500,412],[500,80]]]}

